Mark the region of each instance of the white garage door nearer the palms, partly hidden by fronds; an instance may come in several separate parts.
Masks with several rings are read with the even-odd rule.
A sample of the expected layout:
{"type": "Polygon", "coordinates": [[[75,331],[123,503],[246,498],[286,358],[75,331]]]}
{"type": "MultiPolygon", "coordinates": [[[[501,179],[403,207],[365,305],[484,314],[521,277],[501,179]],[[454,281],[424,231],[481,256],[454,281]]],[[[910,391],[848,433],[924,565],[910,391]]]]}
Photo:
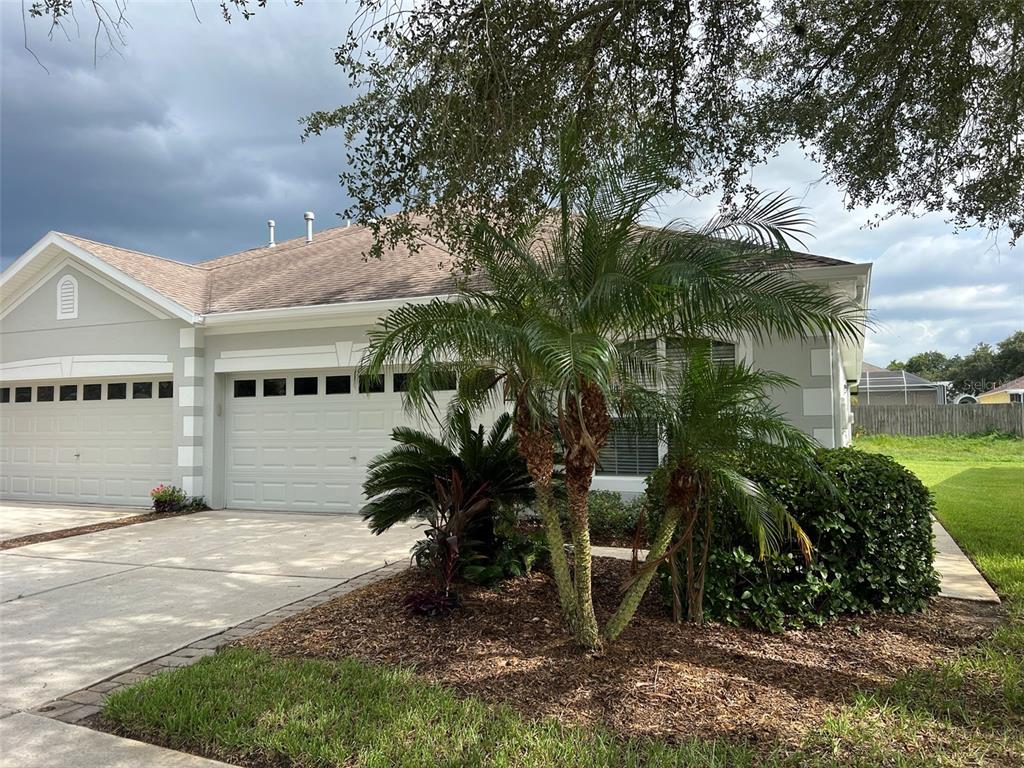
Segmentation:
{"type": "Polygon", "coordinates": [[[404,413],[401,374],[251,374],[227,386],[227,506],[358,512],[367,464],[391,444],[404,413]]]}

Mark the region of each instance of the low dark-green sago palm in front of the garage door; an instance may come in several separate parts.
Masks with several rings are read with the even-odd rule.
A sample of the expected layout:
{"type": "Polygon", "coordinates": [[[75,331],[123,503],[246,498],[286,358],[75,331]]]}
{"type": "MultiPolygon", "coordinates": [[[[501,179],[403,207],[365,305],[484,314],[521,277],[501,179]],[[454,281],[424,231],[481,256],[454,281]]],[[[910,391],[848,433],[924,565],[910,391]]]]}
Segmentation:
{"type": "Polygon", "coordinates": [[[426,519],[438,502],[436,479],[453,473],[467,496],[486,485],[488,507],[534,503],[534,486],[508,414],[499,415],[484,432],[482,424],[473,426],[468,411],[459,409],[450,414],[440,437],[397,427],[391,439],[394,445],[370,462],[362,483],[369,501],[359,513],[374,534],[412,518],[426,519]]]}

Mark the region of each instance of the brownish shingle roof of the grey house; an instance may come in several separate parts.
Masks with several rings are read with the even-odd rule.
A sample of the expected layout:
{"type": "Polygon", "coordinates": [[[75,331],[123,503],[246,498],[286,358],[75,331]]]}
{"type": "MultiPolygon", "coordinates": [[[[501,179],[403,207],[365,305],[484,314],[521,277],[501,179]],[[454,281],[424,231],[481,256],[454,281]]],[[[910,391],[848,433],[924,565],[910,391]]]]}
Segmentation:
{"type": "MultiPolygon", "coordinates": [[[[455,289],[453,257],[440,244],[425,241],[416,253],[395,249],[380,260],[368,259],[373,233],[361,226],[326,229],[312,243],[296,238],[198,264],[60,237],[202,314],[436,296],[455,289]]],[[[804,253],[792,260],[798,269],[848,263],[804,253]]]]}

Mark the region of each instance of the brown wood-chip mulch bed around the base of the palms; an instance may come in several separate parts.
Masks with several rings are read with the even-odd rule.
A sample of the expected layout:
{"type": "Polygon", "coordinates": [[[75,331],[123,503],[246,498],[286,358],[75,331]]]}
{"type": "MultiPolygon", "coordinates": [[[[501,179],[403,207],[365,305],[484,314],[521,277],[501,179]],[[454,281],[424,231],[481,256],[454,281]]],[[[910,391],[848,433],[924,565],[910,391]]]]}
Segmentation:
{"type": "MultiPolygon", "coordinates": [[[[598,618],[617,601],[629,563],[595,558],[598,618]]],[[[824,629],[769,635],[676,625],[648,592],[603,654],[572,645],[545,573],[502,590],[465,588],[462,607],[431,620],[402,598],[428,586],[414,570],[295,615],[241,644],[274,655],[415,668],[487,701],[563,722],[671,740],[722,737],[796,743],[861,688],[933,665],[988,635],[995,606],[938,599],[925,613],[877,613],[824,629]]]]}

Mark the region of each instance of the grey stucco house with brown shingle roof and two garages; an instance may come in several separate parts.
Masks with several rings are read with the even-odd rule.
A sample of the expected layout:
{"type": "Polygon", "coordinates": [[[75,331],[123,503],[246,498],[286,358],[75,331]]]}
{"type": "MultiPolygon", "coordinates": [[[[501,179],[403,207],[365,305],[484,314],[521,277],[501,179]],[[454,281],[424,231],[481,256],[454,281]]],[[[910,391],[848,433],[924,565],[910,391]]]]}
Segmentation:
{"type": "MultiPolygon", "coordinates": [[[[400,367],[355,367],[388,309],[445,296],[447,254],[366,260],[362,227],[196,264],[50,232],[0,276],[0,496],[147,505],[173,482],[214,507],[355,512],[402,408],[400,367]]],[[[870,265],[796,257],[866,302],[870,265]]],[[[671,352],[671,350],[669,350],[671,352]]],[[[847,444],[862,344],[716,345],[787,374],[774,393],[824,445],[847,444]]],[[[610,440],[596,487],[641,490],[664,447],[610,440]]]]}

